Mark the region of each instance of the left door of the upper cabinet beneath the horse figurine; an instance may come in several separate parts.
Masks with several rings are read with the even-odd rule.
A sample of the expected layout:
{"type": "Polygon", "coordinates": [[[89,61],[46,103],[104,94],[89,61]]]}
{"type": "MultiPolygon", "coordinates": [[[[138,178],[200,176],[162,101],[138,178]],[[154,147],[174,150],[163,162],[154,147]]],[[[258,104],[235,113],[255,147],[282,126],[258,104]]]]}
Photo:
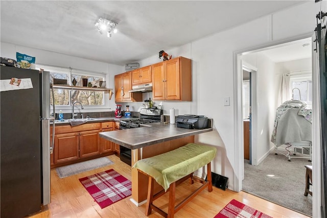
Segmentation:
{"type": "Polygon", "coordinates": [[[152,98],[165,100],[165,62],[152,65],[152,98]]]}

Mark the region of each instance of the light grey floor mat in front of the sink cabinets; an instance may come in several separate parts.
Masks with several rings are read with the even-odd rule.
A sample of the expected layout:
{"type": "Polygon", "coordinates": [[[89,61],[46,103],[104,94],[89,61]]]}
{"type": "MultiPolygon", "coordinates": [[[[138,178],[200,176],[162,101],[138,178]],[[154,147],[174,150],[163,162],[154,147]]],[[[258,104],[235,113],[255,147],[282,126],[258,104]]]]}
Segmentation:
{"type": "Polygon", "coordinates": [[[59,178],[72,176],[91,169],[100,168],[106,165],[113,164],[113,162],[107,157],[100,157],[93,160],[87,160],[79,163],[74,163],[66,166],[57,167],[56,171],[59,178]]]}

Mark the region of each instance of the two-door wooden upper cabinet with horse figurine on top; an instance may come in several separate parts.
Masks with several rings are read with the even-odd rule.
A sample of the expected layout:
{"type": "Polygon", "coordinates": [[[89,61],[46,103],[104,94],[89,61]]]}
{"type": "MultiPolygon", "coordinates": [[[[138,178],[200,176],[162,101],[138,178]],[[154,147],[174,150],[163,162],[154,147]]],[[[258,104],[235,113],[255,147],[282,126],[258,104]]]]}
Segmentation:
{"type": "Polygon", "coordinates": [[[192,101],[191,59],[178,57],[152,65],[153,100],[192,101]]]}

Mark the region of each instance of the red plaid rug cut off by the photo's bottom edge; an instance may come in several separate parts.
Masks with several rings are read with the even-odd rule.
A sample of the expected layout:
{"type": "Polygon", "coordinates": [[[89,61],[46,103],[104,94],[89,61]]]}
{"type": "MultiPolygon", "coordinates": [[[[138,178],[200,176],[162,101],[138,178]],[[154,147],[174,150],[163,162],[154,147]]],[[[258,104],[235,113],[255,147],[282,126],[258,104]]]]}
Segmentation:
{"type": "Polygon", "coordinates": [[[236,218],[236,217],[262,217],[272,218],[267,214],[260,212],[252,207],[249,207],[237,200],[231,200],[214,218],[236,218]]]}

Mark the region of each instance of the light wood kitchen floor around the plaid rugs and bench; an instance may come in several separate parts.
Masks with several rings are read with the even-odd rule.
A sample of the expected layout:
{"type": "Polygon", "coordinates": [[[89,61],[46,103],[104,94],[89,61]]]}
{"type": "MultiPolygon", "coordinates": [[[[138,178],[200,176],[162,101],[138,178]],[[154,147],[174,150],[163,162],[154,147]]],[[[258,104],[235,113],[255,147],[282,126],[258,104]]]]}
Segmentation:
{"type": "MultiPolygon", "coordinates": [[[[43,207],[41,212],[29,217],[147,217],[144,214],[145,204],[136,207],[130,201],[131,197],[101,209],[79,182],[79,178],[100,173],[110,168],[113,168],[116,172],[131,180],[130,166],[120,161],[115,155],[108,156],[108,158],[114,164],[62,179],[57,176],[56,170],[52,169],[51,203],[43,207]]],[[[177,186],[176,202],[178,203],[182,198],[188,196],[199,185],[197,182],[190,185],[188,181],[185,181],[177,186]]],[[[157,199],[155,201],[156,206],[167,211],[168,196],[169,194],[166,193],[157,199]]],[[[214,217],[232,199],[243,202],[272,217],[308,217],[243,191],[234,192],[229,189],[224,191],[216,187],[214,187],[212,192],[204,189],[190,203],[179,210],[175,214],[175,217],[214,217]]],[[[152,210],[152,213],[148,217],[162,216],[152,210]]]]}

